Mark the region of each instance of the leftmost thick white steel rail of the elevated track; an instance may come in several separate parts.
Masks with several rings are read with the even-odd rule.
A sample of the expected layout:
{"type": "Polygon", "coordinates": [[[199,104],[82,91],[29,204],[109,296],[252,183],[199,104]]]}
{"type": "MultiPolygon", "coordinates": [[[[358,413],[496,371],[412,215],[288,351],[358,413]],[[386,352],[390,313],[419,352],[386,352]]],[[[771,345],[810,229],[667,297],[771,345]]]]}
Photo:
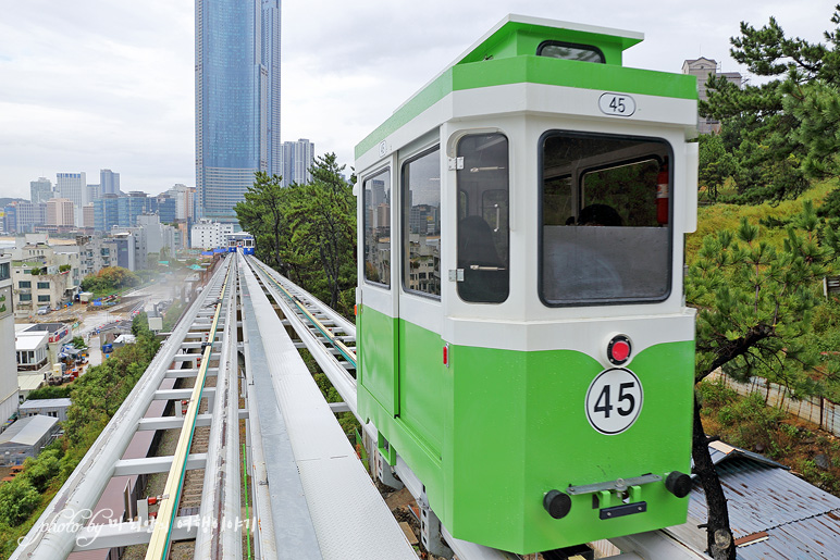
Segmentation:
{"type": "Polygon", "coordinates": [[[11,560],[57,560],[66,558],[75,546],[78,528],[86,523],[99,497],[113,476],[114,465],[125,452],[146,413],[155,391],[160,387],[165,372],[180,344],[198,316],[213,287],[218,285],[227,262],[210,279],[206,288],[190,306],[173,331],[173,335],[161,346],[157,356],[120,409],[94,441],[73,474],[55,494],[47,509],[29,530],[24,540],[12,552],[11,560]]]}

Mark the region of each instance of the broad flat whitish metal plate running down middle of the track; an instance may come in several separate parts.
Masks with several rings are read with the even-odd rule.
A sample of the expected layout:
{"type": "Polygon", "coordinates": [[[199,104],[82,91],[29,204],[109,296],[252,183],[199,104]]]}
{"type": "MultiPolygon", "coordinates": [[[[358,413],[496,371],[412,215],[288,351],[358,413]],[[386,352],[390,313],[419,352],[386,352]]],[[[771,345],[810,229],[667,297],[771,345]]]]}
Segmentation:
{"type": "Polygon", "coordinates": [[[273,390],[267,396],[274,397],[282,412],[323,558],[416,559],[306,363],[280,327],[274,306],[263,294],[265,283],[260,287],[247,270],[244,276],[250,294],[246,301],[250,300],[257,324],[261,332],[272,333],[271,344],[262,345],[270,375],[265,381],[273,390]]]}

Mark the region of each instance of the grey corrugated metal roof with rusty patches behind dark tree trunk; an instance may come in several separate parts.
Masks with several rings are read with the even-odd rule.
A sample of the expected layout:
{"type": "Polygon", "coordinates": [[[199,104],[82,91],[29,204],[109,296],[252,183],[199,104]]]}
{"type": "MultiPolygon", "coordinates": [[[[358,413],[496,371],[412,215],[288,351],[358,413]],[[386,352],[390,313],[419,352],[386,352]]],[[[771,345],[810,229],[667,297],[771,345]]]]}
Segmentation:
{"type": "MultiPolygon", "coordinates": [[[[750,451],[715,443],[709,451],[729,505],[729,523],[743,560],[837,558],[840,553],[840,498],[750,451]]],[[[699,550],[706,548],[706,499],[694,482],[689,518],[667,531],[699,550]]]]}

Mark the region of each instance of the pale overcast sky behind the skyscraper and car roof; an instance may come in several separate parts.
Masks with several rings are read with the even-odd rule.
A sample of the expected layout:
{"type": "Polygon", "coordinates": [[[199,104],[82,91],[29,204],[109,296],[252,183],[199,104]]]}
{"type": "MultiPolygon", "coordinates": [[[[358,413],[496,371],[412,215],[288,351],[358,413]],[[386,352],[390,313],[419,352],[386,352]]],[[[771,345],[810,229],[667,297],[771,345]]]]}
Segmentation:
{"type": "MultiPolygon", "coordinates": [[[[308,138],[354,164],[355,145],[507,13],[641,32],[625,65],[680,72],[729,57],[739,22],[776,16],[823,41],[835,0],[288,0],[283,140],[308,138]],[[679,8],[677,8],[679,4],[679,8]]],[[[0,0],[0,197],[99,170],[124,191],[195,185],[194,2],[0,0]]]]}

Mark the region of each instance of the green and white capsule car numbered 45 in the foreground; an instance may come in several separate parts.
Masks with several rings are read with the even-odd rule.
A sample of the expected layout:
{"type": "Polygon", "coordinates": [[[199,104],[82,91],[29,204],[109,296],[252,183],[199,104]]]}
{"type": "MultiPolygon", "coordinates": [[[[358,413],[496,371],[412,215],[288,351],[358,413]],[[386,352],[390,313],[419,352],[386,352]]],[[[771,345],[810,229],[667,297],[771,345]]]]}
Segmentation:
{"type": "Polygon", "coordinates": [[[685,521],[696,84],[510,15],[356,148],[358,406],[453,536],[685,521]]]}

